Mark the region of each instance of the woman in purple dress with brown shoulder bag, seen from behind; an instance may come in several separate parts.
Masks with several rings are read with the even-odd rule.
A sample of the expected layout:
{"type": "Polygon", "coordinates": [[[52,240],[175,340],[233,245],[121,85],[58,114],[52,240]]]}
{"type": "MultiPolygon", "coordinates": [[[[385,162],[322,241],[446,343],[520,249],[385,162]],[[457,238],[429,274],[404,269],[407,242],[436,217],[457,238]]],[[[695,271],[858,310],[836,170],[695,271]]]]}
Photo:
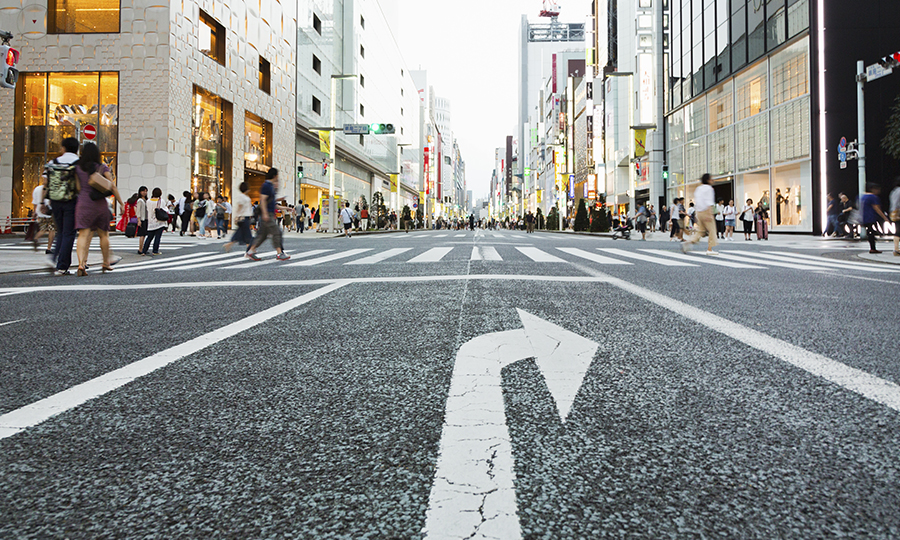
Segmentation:
{"type": "MultiPolygon", "coordinates": [[[[75,175],[81,190],[75,203],[75,229],[78,230],[78,275],[87,275],[88,250],[94,233],[100,237],[100,250],[103,253],[103,273],[111,272],[109,264],[109,222],[112,216],[106,197],[113,195],[116,202],[122,204],[119,190],[112,182],[112,174],[100,160],[97,145],[85,142],[81,148],[81,157],[75,167],[75,175]]],[[[124,205],[123,205],[124,206],[124,205]]]]}

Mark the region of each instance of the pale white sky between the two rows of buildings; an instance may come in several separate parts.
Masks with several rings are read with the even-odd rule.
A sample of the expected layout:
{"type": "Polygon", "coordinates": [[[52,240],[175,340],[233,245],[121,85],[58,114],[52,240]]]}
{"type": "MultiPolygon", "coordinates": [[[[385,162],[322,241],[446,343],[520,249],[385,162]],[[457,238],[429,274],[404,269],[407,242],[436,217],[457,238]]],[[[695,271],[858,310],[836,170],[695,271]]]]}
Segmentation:
{"type": "MultiPolygon", "coordinates": [[[[518,31],[522,14],[539,22],[542,0],[397,0],[397,41],[409,69],[450,100],[451,124],[466,163],[467,189],[486,197],[494,149],[518,122],[518,31]]],[[[589,0],[559,0],[560,20],[584,22],[589,0]]]]}

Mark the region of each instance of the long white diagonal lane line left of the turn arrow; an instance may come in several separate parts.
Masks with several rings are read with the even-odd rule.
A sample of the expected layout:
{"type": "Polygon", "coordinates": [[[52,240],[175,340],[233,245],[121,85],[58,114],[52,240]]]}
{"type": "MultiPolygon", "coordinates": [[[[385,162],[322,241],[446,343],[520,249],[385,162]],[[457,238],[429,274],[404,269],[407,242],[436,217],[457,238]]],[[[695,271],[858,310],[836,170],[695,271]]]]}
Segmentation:
{"type": "Polygon", "coordinates": [[[346,285],[346,282],[333,283],[326,287],[322,287],[321,289],[316,289],[303,296],[294,298],[293,300],[289,300],[259,313],[254,313],[247,318],[223,326],[218,330],[213,330],[200,337],[196,337],[186,343],[170,347],[152,356],[148,356],[143,360],[132,362],[127,366],[110,371],[105,375],[101,375],[50,397],[36,401],[30,405],[0,415],[0,439],[11,437],[16,433],[34,427],[58,414],[72,410],[87,401],[100,397],[108,392],[112,392],[117,388],[121,388],[139,377],[153,373],[172,362],[202,351],[210,345],[215,345],[225,339],[234,337],[241,332],[258,326],[274,317],[312,302],[317,298],[321,298],[344,285],[346,285]]]}

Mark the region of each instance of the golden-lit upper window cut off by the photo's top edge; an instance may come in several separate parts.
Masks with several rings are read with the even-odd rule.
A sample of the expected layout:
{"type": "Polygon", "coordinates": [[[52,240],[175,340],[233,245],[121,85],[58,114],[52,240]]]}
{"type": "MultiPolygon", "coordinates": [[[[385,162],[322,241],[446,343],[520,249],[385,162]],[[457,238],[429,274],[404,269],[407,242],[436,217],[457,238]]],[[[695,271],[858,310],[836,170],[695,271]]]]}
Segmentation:
{"type": "Polygon", "coordinates": [[[117,33],[119,4],[119,0],[49,0],[47,33],[117,33]]]}

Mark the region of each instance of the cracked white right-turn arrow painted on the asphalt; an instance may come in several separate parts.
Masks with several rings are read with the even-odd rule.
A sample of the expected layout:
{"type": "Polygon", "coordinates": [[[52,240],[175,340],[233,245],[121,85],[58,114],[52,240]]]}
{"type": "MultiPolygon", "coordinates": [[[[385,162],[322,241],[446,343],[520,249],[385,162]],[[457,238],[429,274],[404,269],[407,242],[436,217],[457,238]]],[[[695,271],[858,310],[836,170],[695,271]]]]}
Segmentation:
{"type": "Polygon", "coordinates": [[[565,421],[598,344],[522,310],[522,330],[460,347],[450,381],[425,537],[522,537],[501,370],[534,358],[565,421]]]}

